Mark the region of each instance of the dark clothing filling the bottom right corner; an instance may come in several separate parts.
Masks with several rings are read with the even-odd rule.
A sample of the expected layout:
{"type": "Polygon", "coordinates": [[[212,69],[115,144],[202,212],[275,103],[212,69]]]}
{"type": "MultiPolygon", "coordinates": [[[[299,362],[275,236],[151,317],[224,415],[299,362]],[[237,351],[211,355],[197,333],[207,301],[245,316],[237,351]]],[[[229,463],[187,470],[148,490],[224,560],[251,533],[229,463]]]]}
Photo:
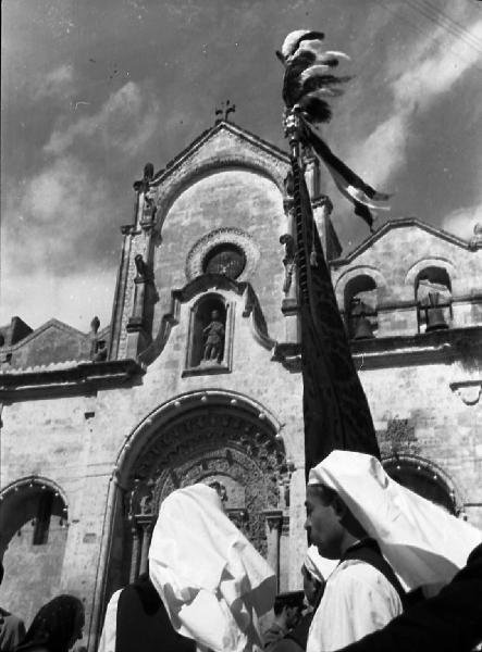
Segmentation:
{"type": "Polygon", "coordinates": [[[470,652],[482,641],[482,544],[434,598],[337,652],[470,652]]]}

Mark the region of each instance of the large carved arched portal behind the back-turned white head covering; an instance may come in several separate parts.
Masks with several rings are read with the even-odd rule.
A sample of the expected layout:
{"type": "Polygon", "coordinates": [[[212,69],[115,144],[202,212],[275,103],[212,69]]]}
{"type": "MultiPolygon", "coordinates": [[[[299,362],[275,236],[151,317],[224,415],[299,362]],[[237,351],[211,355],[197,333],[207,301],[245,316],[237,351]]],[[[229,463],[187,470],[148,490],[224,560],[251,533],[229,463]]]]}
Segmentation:
{"type": "Polygon", "coordinates": [[[227,514],[276,567],[291,477],[276,431],[256,403],[226,392],[176,400],[158,416],[149,416],[121,455],[125,494],[123,525],[118,524],[116,531],[123,530],[123,553],[111,565],[109,585],[121,585],[146,569],[162,501],[174,489],[195,482],[224,486],[227,514]],[[270,523],[273,515],[277,518],[273,532],[268,514],[270,523]]]}

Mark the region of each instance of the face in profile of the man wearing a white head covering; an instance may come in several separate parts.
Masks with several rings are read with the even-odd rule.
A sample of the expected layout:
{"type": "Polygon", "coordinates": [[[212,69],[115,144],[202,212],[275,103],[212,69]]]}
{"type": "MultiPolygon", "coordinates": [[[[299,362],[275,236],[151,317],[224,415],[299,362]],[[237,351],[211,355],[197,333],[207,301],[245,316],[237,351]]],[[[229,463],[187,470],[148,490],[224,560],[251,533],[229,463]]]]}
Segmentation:
{"type": "Polygon", "coordinates": [[[306,496],[305,529],[318,552],[329,559],[337,560],[343,553],[345,528],[333,504],[326,504],[322,489],[308,485],[306,496]]]}

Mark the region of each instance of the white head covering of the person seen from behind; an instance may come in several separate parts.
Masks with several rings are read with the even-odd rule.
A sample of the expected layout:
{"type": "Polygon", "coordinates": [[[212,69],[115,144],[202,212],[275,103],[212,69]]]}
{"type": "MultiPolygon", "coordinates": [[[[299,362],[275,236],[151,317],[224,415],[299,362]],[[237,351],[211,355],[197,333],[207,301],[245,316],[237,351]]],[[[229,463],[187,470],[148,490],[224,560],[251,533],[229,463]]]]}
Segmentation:
{"type": "Polygon", "coordinates": [[[193,485],[164,500],[149,573],[183,636],[214,652],[262,647],[258,618],[273,606],[276,578],[225,515],[214,489],[193,485]]]}

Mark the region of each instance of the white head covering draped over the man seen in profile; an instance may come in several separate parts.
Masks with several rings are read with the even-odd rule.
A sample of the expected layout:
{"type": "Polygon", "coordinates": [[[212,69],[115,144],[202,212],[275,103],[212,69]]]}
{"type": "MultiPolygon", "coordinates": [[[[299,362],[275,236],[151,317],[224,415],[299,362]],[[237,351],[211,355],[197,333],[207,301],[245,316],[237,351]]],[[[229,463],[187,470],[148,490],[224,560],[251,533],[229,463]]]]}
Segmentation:
{"type": "Polygon", "coordinates": [[[450,581],[482,541],[480,530],[395,482],[371,455],[333,451],[308,485],[336,491],[408,589],[450,581]]]}

